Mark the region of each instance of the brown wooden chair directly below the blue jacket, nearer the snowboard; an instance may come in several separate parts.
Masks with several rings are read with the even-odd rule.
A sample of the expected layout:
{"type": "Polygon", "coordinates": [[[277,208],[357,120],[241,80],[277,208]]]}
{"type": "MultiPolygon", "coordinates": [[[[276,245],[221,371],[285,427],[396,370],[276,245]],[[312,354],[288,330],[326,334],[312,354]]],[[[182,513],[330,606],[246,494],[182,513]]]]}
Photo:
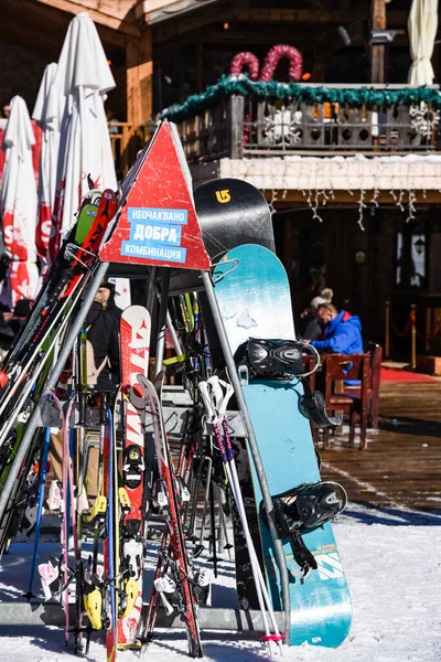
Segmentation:
{"type": "MultiPolygon", "coordinates": [[[[372,369],[369,354],[324,354],[326,412],[333,416],[343,412],[349,418],[349,445],[354,446],[355,427],[359,419],[361,448],[366,448],[367,418],[372,401],[372,369]],[[354,392],[344,391],[346,380],[358,380],[354,392]]],[[[323,430],[323,448],[330,447],[330,430],[323,430]]]]}

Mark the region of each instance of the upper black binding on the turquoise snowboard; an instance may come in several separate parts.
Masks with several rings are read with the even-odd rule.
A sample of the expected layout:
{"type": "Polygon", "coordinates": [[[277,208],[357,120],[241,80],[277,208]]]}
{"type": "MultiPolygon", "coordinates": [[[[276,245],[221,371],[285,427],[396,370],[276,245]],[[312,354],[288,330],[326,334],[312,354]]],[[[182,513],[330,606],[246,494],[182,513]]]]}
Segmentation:
{"type": "Polygon", "coordinates": [[[238,366],[246,365],[254,377],[291,381],[293,377],[305,377],[314,372],[320,363],[320,356],[311,344],[301,340],[250,338],[239,345],[235,361],[238,366]],[[304,370],[303,352],[308,352],[315,359],[315,365],[310,372],[304,370]]]}

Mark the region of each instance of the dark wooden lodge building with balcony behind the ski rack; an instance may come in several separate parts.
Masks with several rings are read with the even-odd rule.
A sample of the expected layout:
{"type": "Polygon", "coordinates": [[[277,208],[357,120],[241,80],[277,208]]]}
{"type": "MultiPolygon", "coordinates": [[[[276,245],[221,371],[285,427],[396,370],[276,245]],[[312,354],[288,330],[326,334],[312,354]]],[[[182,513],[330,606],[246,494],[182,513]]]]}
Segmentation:
{"type": "MultiPolygon", "coordinates": [[[[383,342],[385,302],[401,333],[416,303],[419,351],[434,352],[441,349],[433,335],[441,310],[440,106],[437,87],[415,96],[406,83],[410,6],[2,0],[0,103],[20,94],[32,109],[72,17],[87,11],[117,82],[107,104],[121,122],[112,138],[121,170],[136,137],[148,138],[159,114],[181,104],[169,117],[195,183],[239,177],[265,191],[297,312],[325,282],[338,306],[361,314],[365,335],[383,342]],[[372,44],[372,30],[386,28],[394,30],[390,45],[372,44]],[[275,44],[301,53],[300,88],[257,95],[216,87],[235,54],[249,51],[261,66],[275,44]],[[205,93],[209,86],[217,96],[205,93]]],[[[437,81],[439,45],[432,64],[437,81]]],[[[281,60],[273,78],[288,82],[288,65],[281,60]]],[[[408,356],[409,345],[408,333],[392,335],[396,355],[408,356]]]]}

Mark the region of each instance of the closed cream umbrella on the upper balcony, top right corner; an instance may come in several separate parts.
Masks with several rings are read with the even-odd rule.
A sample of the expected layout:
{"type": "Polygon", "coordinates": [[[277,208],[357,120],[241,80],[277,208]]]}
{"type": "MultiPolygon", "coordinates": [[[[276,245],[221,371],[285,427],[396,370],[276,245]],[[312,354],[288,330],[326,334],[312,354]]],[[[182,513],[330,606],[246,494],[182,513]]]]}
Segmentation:
{"type": "Polygon", "coordinates": [[[431,85],[434,74],[431,57],[438,29],[438,0],[413,0],[408,19],[410,85],[431,85]]]}

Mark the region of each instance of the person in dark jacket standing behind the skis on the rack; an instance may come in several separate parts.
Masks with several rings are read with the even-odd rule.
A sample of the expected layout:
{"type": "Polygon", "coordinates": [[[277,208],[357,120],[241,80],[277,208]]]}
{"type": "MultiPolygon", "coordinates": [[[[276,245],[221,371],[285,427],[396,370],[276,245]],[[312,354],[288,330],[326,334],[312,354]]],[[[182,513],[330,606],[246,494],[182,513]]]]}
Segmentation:
{"type": "Polygon", "coordinates": [[[97,391],[115,391],[121,381],[119,319],[115,286],[104,280],[86,317],[87,340],[94,349],[95,369],[99,371],[97,391]],[[106,361],[107,357],[107,361],[106,361]]]}

